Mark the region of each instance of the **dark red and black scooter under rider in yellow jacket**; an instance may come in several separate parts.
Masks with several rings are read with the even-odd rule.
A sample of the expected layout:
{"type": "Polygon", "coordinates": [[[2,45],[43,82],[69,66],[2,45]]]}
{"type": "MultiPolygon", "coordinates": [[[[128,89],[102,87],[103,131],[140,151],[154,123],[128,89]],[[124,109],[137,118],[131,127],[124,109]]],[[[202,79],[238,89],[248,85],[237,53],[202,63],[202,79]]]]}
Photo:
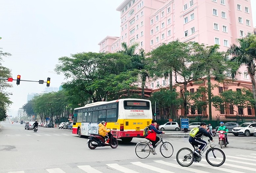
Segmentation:
{"type": "Polygon", "coordinates": [[[96,147],[105,147],[110,146],[111,148],[115,149],[118,146],[117,138],[113,137],[111,132],[108,133],[109,139],[105,144],[105,139],[99,134],[90,134],[90,138],[87,141],[89,149],[96,149],[96,147]]]}

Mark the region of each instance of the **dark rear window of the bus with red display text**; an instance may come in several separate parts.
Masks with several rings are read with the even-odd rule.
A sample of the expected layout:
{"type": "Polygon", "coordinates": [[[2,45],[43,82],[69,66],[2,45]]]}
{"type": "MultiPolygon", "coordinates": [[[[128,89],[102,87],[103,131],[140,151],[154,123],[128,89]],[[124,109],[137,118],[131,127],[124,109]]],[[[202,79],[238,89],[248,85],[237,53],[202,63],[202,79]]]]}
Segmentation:
{"type": "Polygon", "coordinates": [[[124,109],[149,110],[149,102],[146,101],[124,101],[124,109]]]}

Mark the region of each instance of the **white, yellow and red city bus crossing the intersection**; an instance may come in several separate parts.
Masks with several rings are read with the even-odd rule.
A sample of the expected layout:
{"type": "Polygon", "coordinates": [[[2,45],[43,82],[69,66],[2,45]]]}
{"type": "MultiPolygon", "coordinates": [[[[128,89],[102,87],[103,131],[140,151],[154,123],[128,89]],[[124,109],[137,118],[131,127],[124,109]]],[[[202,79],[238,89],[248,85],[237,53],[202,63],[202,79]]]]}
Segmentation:
{"type": "Polygon", "coordinates": [[[73,134],[78,137],[98,134],[98,124],[106,122],[113,136],[124,142],[133,137],[144,137],[143,130],[152,121],[149,100],[119,99],[110,102],[95,102],[74,109],[73,134]]]}

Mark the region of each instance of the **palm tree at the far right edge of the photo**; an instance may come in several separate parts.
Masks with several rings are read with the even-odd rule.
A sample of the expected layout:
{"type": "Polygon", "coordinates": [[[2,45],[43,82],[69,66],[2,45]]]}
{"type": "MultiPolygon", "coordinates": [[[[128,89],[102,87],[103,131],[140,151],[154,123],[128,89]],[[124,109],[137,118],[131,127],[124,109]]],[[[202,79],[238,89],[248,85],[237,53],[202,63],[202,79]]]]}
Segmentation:
{"type": "MultiPolygon", "coordinates": [[[[256,100],[256,81],[255,81],[255,59],[256,46],[252,46],[256,42],[256,37],[251,35],[245,38],[237,39],[240,46],[232,44],[227,50],[230,55],[233,55],[231,61],[238,62],[240,67],[247,66],[248,74],[251,77],[253,99],[256,100]]],[[[256,103],[254,105],[256,117],[256,103]]]]}

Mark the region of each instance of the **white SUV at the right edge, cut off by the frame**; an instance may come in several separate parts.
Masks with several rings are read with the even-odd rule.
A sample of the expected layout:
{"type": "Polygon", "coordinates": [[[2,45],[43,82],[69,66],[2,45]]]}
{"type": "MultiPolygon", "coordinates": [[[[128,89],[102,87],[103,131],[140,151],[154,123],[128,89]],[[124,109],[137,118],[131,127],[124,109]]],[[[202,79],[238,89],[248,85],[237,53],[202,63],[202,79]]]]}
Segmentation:
{"type": "Polygon", "coordinates": [[[238,136],[239,134],[250,136],[254,134],[256,122],[245,122],[238,127],[233,128],[232,134],[238,136]]]}

